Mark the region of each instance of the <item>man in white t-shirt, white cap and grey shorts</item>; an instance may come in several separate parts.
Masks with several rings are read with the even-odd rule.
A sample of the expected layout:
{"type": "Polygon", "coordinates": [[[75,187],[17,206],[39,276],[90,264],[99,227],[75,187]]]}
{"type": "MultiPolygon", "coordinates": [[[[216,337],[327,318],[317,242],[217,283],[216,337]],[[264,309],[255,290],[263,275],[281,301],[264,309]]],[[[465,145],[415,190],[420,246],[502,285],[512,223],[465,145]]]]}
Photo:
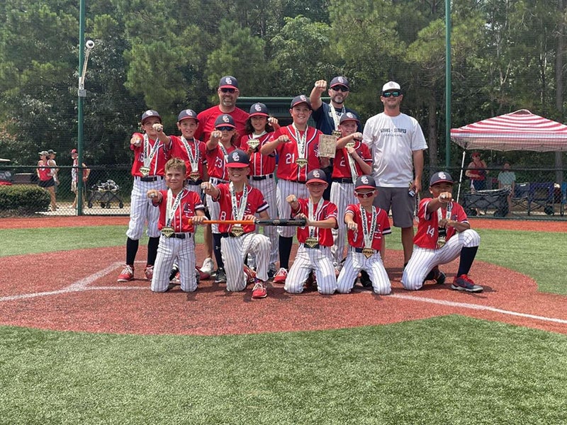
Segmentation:
{"type": "Polygon", "coordinates": [[[427,143],[417,120],[400,112],[400,84],[384,84],[380,100],[384,111],[366,121],[362,141],[371,149],[374,162],[372,175],[378,186],[374,203],[386,211],[392,209],[393,225],[402,229],[405,264],[412,255],[415,193],[421,191],[427,143]]]}

